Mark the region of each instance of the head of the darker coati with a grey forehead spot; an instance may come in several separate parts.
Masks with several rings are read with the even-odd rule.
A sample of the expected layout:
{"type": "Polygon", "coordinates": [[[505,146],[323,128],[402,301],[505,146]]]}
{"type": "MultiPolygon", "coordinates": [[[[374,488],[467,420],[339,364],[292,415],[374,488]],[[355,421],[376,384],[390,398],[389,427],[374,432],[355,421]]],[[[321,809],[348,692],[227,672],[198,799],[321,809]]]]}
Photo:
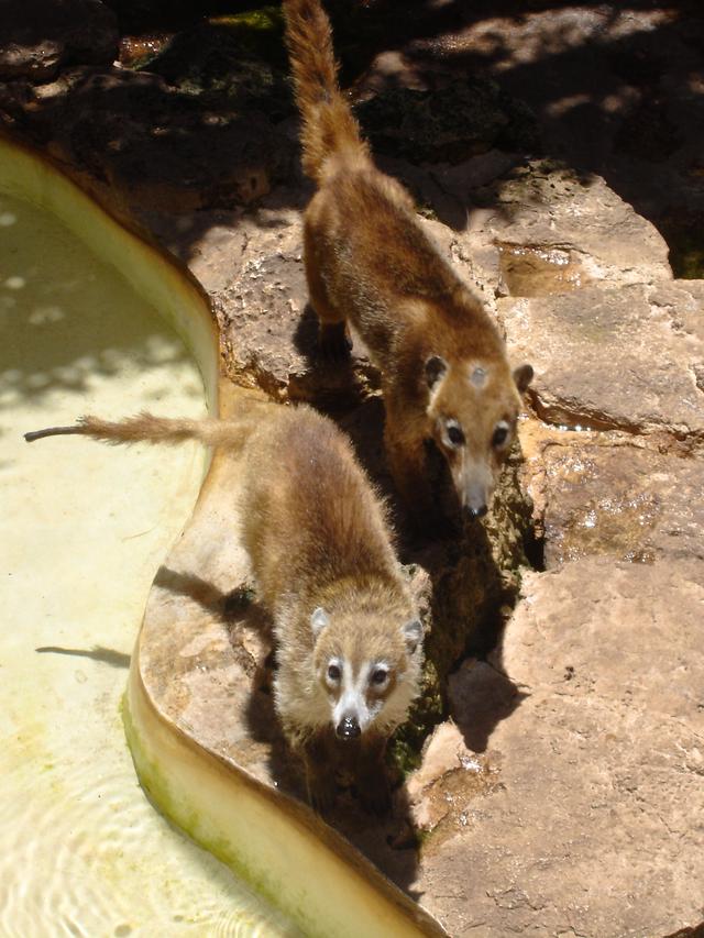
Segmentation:
{"type": "Polygon", "coordinates": [[[431,355],[425,374],[431,439],[448,463],[462,514],[481,518],[516,437],[532,368],[521,365],[512,374],[501,360],[451,363],[431,355]]]}

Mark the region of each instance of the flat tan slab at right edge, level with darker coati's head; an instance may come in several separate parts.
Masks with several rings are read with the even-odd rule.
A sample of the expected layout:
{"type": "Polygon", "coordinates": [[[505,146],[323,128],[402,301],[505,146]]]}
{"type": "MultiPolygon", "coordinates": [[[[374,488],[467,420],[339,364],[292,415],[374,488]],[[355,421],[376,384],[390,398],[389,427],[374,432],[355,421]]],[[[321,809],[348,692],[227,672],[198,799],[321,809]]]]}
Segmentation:
{"type": "Polygon", "coordinates": [[[538,415],[594,429],[704,435],[700,282],[498,302],[509,351],[532,363],[538,415]]]}

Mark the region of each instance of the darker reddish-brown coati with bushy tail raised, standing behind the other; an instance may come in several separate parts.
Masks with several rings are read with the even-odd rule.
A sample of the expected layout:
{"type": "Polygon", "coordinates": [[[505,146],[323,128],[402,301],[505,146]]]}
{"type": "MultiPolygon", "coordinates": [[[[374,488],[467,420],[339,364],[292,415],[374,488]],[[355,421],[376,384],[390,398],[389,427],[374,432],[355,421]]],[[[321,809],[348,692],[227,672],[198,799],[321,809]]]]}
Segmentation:
{"type": "Polygon", "coordinates": [[[305,217],[310,302],[321,352],[349,354],[349,319],[382,372],[396,485],[432,522],[425,443],[444,456],[462,514],[482,516],[516,433],[530,365],[512,373],[483,308],[421,229],[413,201],[372,163],[337,84],[319,0],[284,0],[302,117],[302,166],[318,185],[305,217]]]}

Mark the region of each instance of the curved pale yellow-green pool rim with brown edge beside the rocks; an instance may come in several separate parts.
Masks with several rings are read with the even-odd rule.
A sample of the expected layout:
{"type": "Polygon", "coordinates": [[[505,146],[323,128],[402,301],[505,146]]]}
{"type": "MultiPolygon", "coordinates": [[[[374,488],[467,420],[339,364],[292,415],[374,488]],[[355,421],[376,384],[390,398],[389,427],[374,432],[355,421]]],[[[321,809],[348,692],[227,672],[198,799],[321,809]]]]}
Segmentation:
{"type": "MultiPolygon", "coordinates": [[[[208,411],[218,415],[220,391],[227,396],[218,330],[208,296],[188,269],[125,227],[53,161],[2,132],[0,192],[19,196],[61,219],[125,277],[183,339],[200,369],[208,411]]],[[[201,490],[209,475],[206,467],[201,490]]],[[[305,805],[202,748],[166,720],[143,681],[141,637],[142,628],[131,658],[123,721],[139,781],[162,814],[307,935],[446,934],[305,805]]]]}

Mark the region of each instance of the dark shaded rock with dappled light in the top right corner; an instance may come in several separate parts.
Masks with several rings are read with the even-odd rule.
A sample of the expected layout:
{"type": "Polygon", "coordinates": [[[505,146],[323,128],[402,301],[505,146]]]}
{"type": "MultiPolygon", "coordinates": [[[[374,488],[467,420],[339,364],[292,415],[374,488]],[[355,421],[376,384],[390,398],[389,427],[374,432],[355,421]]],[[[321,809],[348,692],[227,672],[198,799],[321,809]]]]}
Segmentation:
{"type": "MultiPolygon", "coordinates": [[[[377,16],[393,15],[394,4],[373,5],[377,16]]],[[[425,22],[409,11],[403,24],[355,46],[364,62],[374,57],[375,87],[416,87],[438,71],[493,79],[532,112],[541,148],[528,152],[603,176],[667,232],[678,274],[689,267],[686,276],[702,276],[704,30],[696,3],[476,0],[414,13],[425,22]]],[[[343,37],[353,46],[360,21],[343,37]]]]}

